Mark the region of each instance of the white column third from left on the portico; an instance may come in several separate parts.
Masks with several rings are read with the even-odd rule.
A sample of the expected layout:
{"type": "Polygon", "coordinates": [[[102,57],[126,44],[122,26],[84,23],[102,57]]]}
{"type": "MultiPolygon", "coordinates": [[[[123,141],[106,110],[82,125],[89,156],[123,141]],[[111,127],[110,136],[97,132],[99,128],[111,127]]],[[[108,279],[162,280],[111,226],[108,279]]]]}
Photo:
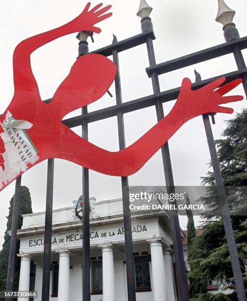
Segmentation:
{"type": "Polygon", "coordinates": [[[112,244],[102,245],[103,301],[115,301],[114,260],[112,244]]]}

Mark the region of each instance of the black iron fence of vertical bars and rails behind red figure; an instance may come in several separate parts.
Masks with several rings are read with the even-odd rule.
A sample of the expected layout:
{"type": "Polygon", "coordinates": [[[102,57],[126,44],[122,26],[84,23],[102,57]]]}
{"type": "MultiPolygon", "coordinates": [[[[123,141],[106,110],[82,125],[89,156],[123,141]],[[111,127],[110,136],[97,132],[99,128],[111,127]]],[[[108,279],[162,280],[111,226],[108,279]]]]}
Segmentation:
{"type": "MultiPolygon", "coordinates": [[[[88,139],[88,124],[98,120],[104,120],[113,116],[117,117],[118,125],[118,139],[119,149],[125,148],[125,131],[123,116],[126,113],[140,110],[143,108],[155,106],[157,120],[164,118],[163,103],[171,100],[175,100],[178,96],[180,87],[161,91],[159,85],[159,75],[168,73],[186,66],[190,66],[206,60],[221,57],[226,54],[233,54],[237,63],[238,70],[227,74],[219,75],[206,80],[201,80],[200,76],[197,76],[196,83],[193,84],[193,89],[199,89],[206,84],[212,82],[219,77],[226,77],[226,82],[230,82],[234,79],[242,78],[245,93],[247,94],[247,68],[245,60],[242,55],[242,50],[247,48],[247,37],[240,38],[237,28],[233,23],[229,23],[224,26],[224,36],[226,43],[217,45],[202,51],[198,51],[184,57],[177,58],[175,60],[169,60],[160,64],[156,64],[155,53],[153,48],[153,40],[155,35],[153,32],[152,22],[149,17],[141,19],[141,33],[130,37],[128,39],[117,41],[114,37],[111,45],[108,45],[99,50],[93,51],[104,55],[106,57],[112,56],[113,61],[117,66],[118,72],[115,78],[115,94],[116,104],[101,110],[88,113],[87,107],[82,109],[82,114],[67,120],[63,120],[63,123],[68,127],[82,126],[82,133],[84,139],[88,139]],[[121,93],[121,78],[119,71],[119,59],[118,54],[125,50],[132,49],[139,45],[146,44],[147,55],[149,59],[149,67],[146,68],[146,73],[151,78],[153,94],[141,97],[132,101],[122,102],[121,93]]],[[[86,55],[89,52],[88,43],[86,41],[80,41],[79,43],[79,56],[86,55]]],[[[50,99],[46,100],[49,102],[50,99]]],[[[211,122],[209,115],[203,116],[203,122],[208,139],[209,150],[212,159],[212,167],[217,185],[217,191],[219,195],[225,195],[223,189],[223,181],[220,173],[219,163],[217,159],[217,153],[214,145],[214,139],[212,135],[211,122]]],[[[168,192],[171,193],[175,190],[175,183],[173,179],[173,170],[171,164],[171,158],[169,153],[169,144],[166,143],[162,147],[162,159],[165,173],[166,185],[168,192]]],[[[44,233],[44,255],[43,255],[43,282],[42,282],[42,301],[49,300],[49,286],[50,286],[50,258],[51,258],[51,233],[52,233],[52,203],[53,203],[53,174],[54,174],[54,159],[48,160],[47,170],[47,194],[46,194],[46,213],[45,213],[45,233],[44,233]]],[[[135,274],[134,274],[134,257],[133,257],[133,241],[131,231],[131,214],[129,209],[129,194],[128,194],[128,177],[122,177],[122,198],[123,198],[123,213],[124,213],[124,227],[125,227],[125,249],[126,249],[126,269],[127,269],[127,289],[128,289],[128,301],[136,300],[136,288],[135,288],[135,274]]],[[[82,169],[82,194],[83,194],[83,301],[90,301],[90,236],[89,236],[89,171],[86,168],[82,169]]],[[[12,234],[11,245],[9,252],[9,264],[6,290],[12,290],[13,285],[13,267],[15,258],[15,244],[16,244],[16,232],[17,232],[17,216],[19,211],[20,200],[20,185],[21,177],[16,180],[15,188],[15,200],[13,209],[13,222],[12,222],[12,234]]],[[[235,278],[236,291],[239,301],[246,300],[245,288],[242,278],[242,272],[240,269],[240,263],[238,259],[238,253],[236,243],[234,240],[233,229],[231,225],[231,219],[228,211],[228,206],[225,198],[221,198],[221,211],[222,218],[225,227],[225,233],[231,257],[232,270],[235,278]]],[[[185,269],[181,230],[179,227],[178,214],[171,214],[171,228],[173,237],[173,247],[176,260],[176,276],[178,282],[178,294],[182,301],[189,300],[188,293],[188,280],[185,269]]]]}

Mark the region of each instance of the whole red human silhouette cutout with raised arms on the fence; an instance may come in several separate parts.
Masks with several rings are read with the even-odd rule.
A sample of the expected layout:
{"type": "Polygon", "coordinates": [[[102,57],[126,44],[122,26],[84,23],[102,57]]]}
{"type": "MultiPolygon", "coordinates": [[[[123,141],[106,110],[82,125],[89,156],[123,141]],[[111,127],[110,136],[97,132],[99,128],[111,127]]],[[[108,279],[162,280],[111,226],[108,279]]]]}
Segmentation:
{"type": "Polygon", "coordinates": [[[61,120],[69,112],[106,93],[116,75],[115,64],[96,54],[78,58],[52,101],[44,103],[32,72],[30,56],[37,48],[66,34],[82,30],[101,32],[94,25],[111,16],[111,13],[104,15],[111,5],[99,9],[102,5],[89,11],[88,3],[68,24],[30,37],[16,47],[13,55],[14,96],[0,119],[0,189],[48,158],[66,159],[106,175],[129,176],[137,172],[183,123],[206,113],[233,113],[233,109],[219,105],[243,99],[242,96],[222,97],[237,87],[241,79],[215,90],[225,81],[220,78],[194,91],[190,80],[185,78],[172,111],[131,146],[111,152],[79,137],[61,120]]]}

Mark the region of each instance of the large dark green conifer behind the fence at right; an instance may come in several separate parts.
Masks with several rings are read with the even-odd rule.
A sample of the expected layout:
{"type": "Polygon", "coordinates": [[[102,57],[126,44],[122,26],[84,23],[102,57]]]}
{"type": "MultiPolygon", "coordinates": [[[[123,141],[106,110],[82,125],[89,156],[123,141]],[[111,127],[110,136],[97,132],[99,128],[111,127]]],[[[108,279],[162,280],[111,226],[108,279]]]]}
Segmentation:
{"type": "MultiPolygon", "coordinates": [[[[235,240],[247,287],[247,190],[246,187],[243,187],[247,186],[247,109],[237,114],[234,119],[227,121],[227,128],[223,131],[222,136],[223,138],[216,140],[215,144],[222,178],[227,188],[227,201],[232,213],[231,220],[235,240]]],[[[210,164],[210,167],[212,167],[212,164],[210,164]]],[[[193,301],[208,300],[210,298],[208,295],[201,294],[204,292],[202,292],[203,288],[201,286],[198,287],[198,275],[200,275],[200,279],[218,281],[223,289],[231,288],[235,290],[216,189],[212,187],[215,185],[215,181],[211,171],[202,178],[202,184],[209,186],[208,196],[203,201],[210,210],[202,214],[205,220],[203,234],[193,240],[189,250],[189,264],[191,266],[191,272],[189,273],[190,296],[194,298],[193,301]]],[[[221,300],[220,298],[223,297],[217,294],[216,297],[211,298],[221,300]]],[[[228,295],[227,298],[237,300],[236,293],[228,295]]]]}

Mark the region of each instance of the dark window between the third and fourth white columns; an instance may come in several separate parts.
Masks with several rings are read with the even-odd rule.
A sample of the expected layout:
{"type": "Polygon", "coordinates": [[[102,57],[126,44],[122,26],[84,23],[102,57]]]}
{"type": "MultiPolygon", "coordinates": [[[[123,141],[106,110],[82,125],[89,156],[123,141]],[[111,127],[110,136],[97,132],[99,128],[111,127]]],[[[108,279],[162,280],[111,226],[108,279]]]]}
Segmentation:
{"type": "Polygon", "coordinates": [[[151,291],[149,258],[149,255],[134,257],[137,292],[151,291]]]}

